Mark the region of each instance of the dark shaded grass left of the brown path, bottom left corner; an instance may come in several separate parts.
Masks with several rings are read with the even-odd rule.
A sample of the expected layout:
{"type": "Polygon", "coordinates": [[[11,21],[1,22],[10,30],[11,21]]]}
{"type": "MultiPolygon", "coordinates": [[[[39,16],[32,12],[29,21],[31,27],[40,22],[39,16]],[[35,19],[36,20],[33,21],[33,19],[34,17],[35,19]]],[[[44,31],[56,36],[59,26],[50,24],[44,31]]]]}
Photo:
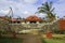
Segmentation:
{"type": "Polygon", "coordinates": [[[6,37],[2,37],[0,38],[0,43],[22,43],[23,39],[14,39],[14,38],[6,38],[6,37]]]}

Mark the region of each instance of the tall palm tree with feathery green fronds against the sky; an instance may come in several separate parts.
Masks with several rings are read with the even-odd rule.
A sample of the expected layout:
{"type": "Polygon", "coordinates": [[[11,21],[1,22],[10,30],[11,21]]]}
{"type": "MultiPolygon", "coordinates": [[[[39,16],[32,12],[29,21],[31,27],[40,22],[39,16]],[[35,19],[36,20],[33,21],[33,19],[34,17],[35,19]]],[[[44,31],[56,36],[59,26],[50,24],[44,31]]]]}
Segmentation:
{"type": "Polygon", "coordinates": [[[46,13],[50,19],[55,18],[53,11],[54,8],[52,8],[52,2],[42,3],[42,6],[38,8],[38,13],[46,13]]]}

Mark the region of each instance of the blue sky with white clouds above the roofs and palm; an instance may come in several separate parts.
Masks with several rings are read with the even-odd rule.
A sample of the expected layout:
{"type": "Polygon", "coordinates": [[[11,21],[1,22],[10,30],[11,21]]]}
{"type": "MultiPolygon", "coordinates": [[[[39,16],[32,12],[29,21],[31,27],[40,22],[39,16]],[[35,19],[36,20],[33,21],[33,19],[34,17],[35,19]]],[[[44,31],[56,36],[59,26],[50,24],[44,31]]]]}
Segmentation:
{"type": "Polygon", "coordinates": [[[10,6],[13,10],[14,17],[27,17],[30,15],[37,15],[39,17],[44,17],[46,14],[35,14],[39,6],[44,2],[53,2],[55,8],[54,13],[57,16],[65,16],[65,0],[0,0],[0,16],[10,15],[10,6]]]}

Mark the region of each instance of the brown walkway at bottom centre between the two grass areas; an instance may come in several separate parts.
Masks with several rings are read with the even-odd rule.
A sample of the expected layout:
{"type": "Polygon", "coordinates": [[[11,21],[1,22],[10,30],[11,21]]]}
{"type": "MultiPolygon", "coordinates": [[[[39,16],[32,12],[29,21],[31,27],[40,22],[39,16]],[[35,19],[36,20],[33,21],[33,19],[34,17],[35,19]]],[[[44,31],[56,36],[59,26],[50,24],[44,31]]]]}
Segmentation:
{"type": "Polygon", "coordinates": [[[26,38],[24,38],[23,43],[41,43],[41,40],[38,35],[28,34],[26,38]]]}

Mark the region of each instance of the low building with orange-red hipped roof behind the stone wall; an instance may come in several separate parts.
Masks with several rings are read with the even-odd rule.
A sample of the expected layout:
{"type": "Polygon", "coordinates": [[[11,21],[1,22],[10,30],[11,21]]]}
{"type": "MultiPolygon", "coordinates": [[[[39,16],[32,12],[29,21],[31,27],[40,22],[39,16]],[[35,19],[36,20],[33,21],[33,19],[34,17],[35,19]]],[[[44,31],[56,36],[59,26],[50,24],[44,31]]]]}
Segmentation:
{"type": "Polygon", "coordinates": [[[25,24],[39,24],[39,23],[43,23],[46,20],[41,19],[40,17],[38,17],[36,15],[31,15],[31,16],[28,16],[24,19],[12,18],[12,19],[10,19],[10,22],[12,22],[12,23],[25,23],[25,24]]]}

